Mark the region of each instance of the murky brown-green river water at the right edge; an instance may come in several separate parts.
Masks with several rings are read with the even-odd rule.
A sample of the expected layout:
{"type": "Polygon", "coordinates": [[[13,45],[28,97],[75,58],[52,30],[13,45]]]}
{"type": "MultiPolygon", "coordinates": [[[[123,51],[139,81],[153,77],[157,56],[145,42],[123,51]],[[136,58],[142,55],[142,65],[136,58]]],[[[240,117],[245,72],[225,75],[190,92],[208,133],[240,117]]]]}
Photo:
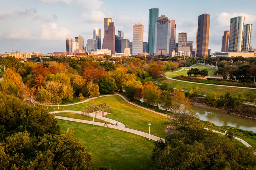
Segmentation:
{"type": "Polygon", "coordinates": [[[256,121],[233,116],[224,112],[215,111],[198,106],[192,106],[201,120],[214,123],[216,126],[231,126],[256,133],[256,121]]]}

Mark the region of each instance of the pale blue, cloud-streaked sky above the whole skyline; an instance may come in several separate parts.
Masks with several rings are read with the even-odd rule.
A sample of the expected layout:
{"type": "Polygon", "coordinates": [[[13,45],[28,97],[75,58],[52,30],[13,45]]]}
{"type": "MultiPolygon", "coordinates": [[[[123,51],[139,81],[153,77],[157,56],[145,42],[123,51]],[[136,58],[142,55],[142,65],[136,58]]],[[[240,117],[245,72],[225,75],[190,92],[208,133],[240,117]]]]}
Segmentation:
{"type": "MultiPolygon", "coordinates": [[[[196,41],[198,16],[210,14],[209,48],[221,51],[222,36],[230,28],[230,18],[245,16],[244,24],[253,24],[251,46],[256,48],[255,0],[1,0],[0,54],[12,51],[44,54],[66,52],[67,37],[93,38],[93,29],[101,28],[104,18],[112,18],[115,35],[118,30],[132,41],[133,24],[144,25],[144,41],[148,41],[148,10],[159,8],[159,16],[176,20],[178,33],[186,32],[187,41],[196,41]]],[[[102,44],[101,44],[102,45],[102,44]]],[[[86,45],[85,45],[86,46],[86,45]]]]}

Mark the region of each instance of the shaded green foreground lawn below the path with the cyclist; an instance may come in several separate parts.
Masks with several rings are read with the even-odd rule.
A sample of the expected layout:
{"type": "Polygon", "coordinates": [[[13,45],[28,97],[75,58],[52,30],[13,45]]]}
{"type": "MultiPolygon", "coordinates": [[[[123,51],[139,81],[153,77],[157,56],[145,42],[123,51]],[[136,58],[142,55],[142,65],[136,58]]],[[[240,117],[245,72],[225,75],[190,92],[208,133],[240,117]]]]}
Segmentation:
{"type": "MultiPolygon", "coordinates": [[[[150,169],[154,141],[117,129],[58,120],[62,131],[74,130],[75,137],[93,154],[95,167],[150,169]]],[[[151,130],[151,128],[150,128],[151,130]]],[[[150,131],[151,132],[151,131],[150,131]]]]}

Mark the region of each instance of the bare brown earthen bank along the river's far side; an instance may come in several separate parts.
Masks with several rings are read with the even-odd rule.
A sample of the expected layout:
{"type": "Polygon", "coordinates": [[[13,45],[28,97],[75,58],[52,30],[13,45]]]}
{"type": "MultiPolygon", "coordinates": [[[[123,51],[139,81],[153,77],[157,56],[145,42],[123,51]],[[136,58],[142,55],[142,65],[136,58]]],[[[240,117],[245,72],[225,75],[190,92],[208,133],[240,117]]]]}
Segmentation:
{"type": "Polygon", "coordinates": [[[233,116],[246,118],[249,120],[255,120],[256,121],[256,107],[248,106],[248,105],[241,105],[236,108],[228,108],[228,107],[213,107],[210,103],[208,103],[207,99],[205,97],[196,97],[191,100],[191,104],[203,107],[207,109],[212,109],[220,112],[224,112],[233,116]]]}

